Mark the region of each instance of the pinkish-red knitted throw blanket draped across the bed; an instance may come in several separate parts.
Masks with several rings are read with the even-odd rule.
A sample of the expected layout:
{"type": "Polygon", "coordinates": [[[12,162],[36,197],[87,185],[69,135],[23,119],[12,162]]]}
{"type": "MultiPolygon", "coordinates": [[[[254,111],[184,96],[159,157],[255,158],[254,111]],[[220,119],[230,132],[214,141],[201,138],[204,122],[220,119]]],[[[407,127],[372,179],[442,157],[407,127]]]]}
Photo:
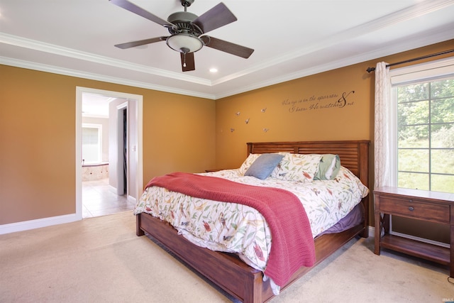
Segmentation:
{"type": "Polygon", "coordinates": [[[284,285],[301,266],[310,267],[315,263],[309,219],[304,206],[292,192],[185,172],[155,177],[146,185],[151,186],[165,187],[201,199],[245,204],[260,211],[272,236],[265,275],[279,286],[284,285]]]}

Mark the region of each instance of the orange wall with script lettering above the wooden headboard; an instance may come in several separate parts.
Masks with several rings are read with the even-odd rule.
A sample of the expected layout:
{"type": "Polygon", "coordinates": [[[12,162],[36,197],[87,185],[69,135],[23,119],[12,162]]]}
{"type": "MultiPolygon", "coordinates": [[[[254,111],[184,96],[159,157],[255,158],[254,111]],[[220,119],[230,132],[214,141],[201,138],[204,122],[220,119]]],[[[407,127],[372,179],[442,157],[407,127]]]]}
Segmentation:
{"type": "Polygon", "coordinates": [[[216,101],[217,165],[239,167],[247,142],[370,139],[373,75],[366,68],[352,65],[216,101]]]}

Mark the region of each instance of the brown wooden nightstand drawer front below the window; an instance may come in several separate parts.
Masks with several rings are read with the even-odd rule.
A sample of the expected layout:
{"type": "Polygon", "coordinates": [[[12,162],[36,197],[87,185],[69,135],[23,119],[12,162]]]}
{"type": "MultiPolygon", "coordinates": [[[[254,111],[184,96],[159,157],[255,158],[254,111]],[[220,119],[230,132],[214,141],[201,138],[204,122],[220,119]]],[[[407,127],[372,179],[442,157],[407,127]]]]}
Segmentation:
{"type": "Polygon", "coordinates": [[[380,211],[387,214],[402,214],[428,221],[450,223],[450,206],[428,204],[417,199],[399,199],[396,197],[381,197],[380,211]]]}

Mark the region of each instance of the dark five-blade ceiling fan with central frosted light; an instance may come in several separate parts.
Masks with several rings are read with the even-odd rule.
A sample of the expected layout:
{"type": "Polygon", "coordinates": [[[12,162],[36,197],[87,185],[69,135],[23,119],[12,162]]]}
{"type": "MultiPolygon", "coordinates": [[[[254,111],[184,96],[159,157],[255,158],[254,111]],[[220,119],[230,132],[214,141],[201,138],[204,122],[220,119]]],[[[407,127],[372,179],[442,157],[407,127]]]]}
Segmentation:
{"type": "Polygon", "coordinates": [[[109,1],[116,6],[164,26],[170,33],[170,36],[167,37],[162,36],[117,44],[115,45],[117,48],[134,48],[139,45],[166,41],[172,50],[180,53],[183,72],[195,70],[194,53],[204,46],[243,58],[248,58],[254,52],[252,48],[246,48],[245,46],[204,35],[209,31],[237,20],[236,16],[222,2],[201,16],[196,16],[194,13],[187,11],[187,8],[194,3],[194,0],[180,0],[182,6],[184,6],[184,11],[172,13],[165,21],[127,0],[109,1]]]}

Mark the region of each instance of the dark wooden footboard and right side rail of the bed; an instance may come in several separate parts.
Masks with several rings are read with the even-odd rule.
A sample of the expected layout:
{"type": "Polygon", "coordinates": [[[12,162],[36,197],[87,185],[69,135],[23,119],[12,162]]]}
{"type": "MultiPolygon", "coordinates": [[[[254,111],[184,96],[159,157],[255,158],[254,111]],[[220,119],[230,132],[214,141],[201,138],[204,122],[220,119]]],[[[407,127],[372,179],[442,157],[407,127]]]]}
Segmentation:
{"type": "MultiPolygon", "coordinates": [[[[364,226],[361,224],[342,233],[331,233],[316,238],[316,263],[314,266],[362,233],[363,229],[364,226]]],[[[267,302],[274,297],[270,283],[262,281],[262,272],[246,265],[236,255],[195,246],[183,236],[179,236],[177,230],[167,222],[143,213],[137,216],[137,235],[142,236],[145,233],[162,243],[201,275],[243,302],[267,302]]],[[[282,290],[311,269],[300,268],[290,278],[287,285],[282,287],[282,290]]]]}

